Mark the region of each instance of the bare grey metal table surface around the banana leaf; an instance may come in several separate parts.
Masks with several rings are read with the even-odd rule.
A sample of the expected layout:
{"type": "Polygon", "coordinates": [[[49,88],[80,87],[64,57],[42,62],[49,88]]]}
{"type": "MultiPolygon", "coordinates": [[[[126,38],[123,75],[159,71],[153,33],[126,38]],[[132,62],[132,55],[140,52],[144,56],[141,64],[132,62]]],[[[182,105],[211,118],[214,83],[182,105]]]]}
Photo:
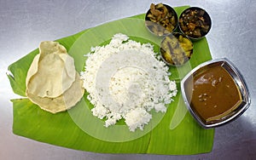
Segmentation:
{"type": "Polygon", "coordinates": [[[242,72],[252,104],[236,121],[216,129],[212,152],[192,156],[149,154],[100,154],[75,151],[29,140],[12,133],[12,103],[15,99],[7,67],[38,48],[44,40],[73,35],[146,12],[152,1],[0,0],[0,159],[256,159],[256,1],[154,1],[174,6],[199,6],[212,17],[207,41],[212,58],[226,57],[242,72]]]}

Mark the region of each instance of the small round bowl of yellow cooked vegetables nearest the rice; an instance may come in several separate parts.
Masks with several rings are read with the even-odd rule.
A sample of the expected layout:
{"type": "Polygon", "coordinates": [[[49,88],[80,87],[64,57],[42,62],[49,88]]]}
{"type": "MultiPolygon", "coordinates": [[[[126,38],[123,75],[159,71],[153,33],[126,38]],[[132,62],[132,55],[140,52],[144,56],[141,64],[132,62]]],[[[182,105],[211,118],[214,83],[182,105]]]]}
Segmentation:
{"type": "Polygon", "coordinates": [[[189,37],[173,32],[161,41],[160,57],[168,66],[183,66],[192,56],[193,48],[189,37]]]}

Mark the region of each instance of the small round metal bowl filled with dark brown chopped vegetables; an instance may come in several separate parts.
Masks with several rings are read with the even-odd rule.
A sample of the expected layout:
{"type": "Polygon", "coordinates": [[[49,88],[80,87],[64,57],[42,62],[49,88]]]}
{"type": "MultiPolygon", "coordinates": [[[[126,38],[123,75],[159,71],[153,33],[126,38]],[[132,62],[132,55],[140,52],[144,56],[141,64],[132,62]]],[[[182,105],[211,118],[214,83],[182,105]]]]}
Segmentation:
{"type": "Polygon", "coordinates": [[[211,30],[212,20],[205,9],[190,7],[180,14],[178,27],[184,35],[196,41],[205,37],[211,30]]]}

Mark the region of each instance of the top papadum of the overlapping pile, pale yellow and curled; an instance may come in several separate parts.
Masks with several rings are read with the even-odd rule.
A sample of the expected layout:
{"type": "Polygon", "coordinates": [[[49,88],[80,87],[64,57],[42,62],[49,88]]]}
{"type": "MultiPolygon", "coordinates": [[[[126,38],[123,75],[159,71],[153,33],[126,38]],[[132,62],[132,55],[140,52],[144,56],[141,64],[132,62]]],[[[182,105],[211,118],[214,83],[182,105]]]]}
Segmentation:
{"type": "Polygon", "coordinates": [[[71,87],[75,72],[73,57],[61,44],[42,42],[27,71],[26,90],[40,97],[55,98],[71,87]]]}

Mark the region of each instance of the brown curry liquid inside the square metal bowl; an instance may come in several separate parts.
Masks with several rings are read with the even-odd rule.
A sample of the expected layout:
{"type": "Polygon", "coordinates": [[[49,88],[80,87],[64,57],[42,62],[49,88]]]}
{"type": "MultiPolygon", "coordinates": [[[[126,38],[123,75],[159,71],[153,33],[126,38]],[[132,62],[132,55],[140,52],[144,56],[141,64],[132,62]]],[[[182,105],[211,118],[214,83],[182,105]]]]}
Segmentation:
{"type": "Polygon", "coordinates": [[[241,93],[222,66],[205,66],[186,83],[192,110],[206,123],[227,116],[241,104],[241,93]]]}

